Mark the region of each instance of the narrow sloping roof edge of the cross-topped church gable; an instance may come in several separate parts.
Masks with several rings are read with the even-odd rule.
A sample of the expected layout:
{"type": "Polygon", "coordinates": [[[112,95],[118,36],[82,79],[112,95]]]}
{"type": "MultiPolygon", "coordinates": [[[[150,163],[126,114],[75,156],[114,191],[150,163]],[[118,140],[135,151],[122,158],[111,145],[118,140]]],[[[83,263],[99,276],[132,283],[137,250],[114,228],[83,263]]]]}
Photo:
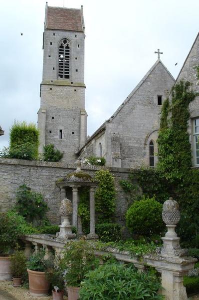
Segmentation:
{"type": "MultiPolygon", "coordinates": [[[[142,78],[142,80],[138,83],[138,85],[132,90],[132,92],[127,96],[127,98],[122,102],[122,104],[118,107],[118,109],[115,111],[115,113],[112,114],[112,116],[106,120],[90,137],[89,139],[86,141],[85,145],[88,144],[95,136],[97,136],[100,132],[102,132],[103,130],[106,129],[106,123],[107,122],[111,122],[115,116],[120,112],[120,110],[125,106],[125,104],[131,99],[131,97],[134,95],[134,93],[140,88],[140,86],[145,82],[145,80],[148,78],[148,76],[152,73],[152,71],[156,68],[156,66],[161,63],[162,66],[166,69],[166,71],[169,73],[169,75],[173,78],[174,82],[175,82],[175,78],[172,76],[172,74],[170,73],[170,71],[166,68],[166,66],[164,65],[164,63],[161,61],[161,59],[158,59],[154,65],[150,68],[150,70],[146,73],[146,75],[142,78]]],[[[85,146],[84,145],[84,146],[85,146]]],[[[81,149],[77,152],[80,153],[81,150],[84,148],[81,147],[81,149]]]]}

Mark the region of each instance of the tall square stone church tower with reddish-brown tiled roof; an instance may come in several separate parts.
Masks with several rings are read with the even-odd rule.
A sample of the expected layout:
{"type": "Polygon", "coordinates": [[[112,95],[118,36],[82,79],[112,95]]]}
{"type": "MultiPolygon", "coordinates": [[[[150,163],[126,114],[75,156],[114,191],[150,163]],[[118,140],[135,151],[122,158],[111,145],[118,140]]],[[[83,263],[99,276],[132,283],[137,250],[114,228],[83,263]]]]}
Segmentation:
{"type": "Polygon", "coordinates": [[[84,19],[81,9],[45,9],[43,76],[38,111],[39,151],[54,144],[64,161],[74,161],[86,141],[84,19]]]}

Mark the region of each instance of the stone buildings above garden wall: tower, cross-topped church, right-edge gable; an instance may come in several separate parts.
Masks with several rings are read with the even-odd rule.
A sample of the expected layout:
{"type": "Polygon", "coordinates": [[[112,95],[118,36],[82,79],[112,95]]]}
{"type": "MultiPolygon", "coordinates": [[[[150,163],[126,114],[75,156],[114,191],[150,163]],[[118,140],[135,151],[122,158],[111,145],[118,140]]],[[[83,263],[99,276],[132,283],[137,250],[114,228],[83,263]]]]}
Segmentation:
{"type": "MultiPolygon", "coordinates": [[[[175,83],[160,59],[87,139],[85,110],[83,8],[51,7],[46,3],[43,34],[43,77],[38,111],[40,152],[49,143],[64,151],[63,161],[104,156],[107,166],[155,166],[161,107],[175,83]]],[[[199,36],[177,78],[198,88],[199,36]]],[[[190,104],[193,165],[199,165],[199,97],[190,104]]]]}

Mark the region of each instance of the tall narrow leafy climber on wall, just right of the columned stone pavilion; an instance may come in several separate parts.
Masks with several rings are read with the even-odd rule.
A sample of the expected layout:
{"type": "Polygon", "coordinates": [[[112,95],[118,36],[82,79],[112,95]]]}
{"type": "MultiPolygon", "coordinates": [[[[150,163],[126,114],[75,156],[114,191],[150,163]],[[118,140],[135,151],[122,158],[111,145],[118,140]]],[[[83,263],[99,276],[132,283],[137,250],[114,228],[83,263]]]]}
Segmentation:
{"type": "Polygon", "coordinates": [[[98,223],[110,222],[115,211],[115,181],[109,170],[98,170],[95,179],[99,181],[95,192],[95,210],[98,223]]]}

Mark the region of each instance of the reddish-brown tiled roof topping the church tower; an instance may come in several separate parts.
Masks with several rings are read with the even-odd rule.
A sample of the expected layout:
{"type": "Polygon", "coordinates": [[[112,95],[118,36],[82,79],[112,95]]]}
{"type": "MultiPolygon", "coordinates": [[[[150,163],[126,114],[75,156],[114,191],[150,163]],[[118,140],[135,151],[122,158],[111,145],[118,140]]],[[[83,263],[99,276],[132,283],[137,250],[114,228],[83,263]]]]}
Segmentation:
{"type": "Polygon", "coordinates": [[[45,26],[47,29],[84,31],[81,9],[46,6],[45,26]]]}

